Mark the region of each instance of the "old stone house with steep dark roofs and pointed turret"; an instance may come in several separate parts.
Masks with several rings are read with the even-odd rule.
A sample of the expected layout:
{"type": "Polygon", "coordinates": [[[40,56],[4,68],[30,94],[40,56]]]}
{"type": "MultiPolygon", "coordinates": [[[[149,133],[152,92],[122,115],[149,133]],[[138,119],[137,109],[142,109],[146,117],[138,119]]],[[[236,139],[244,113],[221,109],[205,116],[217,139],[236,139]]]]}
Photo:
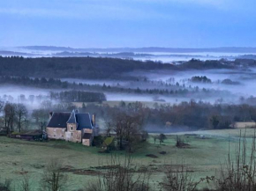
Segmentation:
{"type": "Polygon", "coordinates": [[[78,110],[72,113],[50,113],[46,128],[49,139],[61,139],[73,143],[91,146],[99,128],[95,125],[95,114],[81,114],[78,110]]]}

